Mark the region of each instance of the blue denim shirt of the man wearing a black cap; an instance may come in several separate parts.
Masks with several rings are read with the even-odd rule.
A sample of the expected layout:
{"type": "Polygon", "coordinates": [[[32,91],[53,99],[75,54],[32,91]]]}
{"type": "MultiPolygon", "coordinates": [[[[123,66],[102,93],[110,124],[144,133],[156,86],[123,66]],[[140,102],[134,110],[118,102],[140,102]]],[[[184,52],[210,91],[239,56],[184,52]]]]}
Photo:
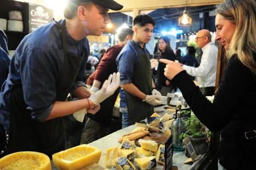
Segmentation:
{"type": "MultiPolygon", "coordinates": [[[[60,23],[63,23],[61,20],[60,23]]],[[[74,87],[85,86],[85,66],[90,54],[87,38],[74,40],[67,32],[67,51],[81,56],[82,61],[74,87]]],[[[42,26],[26,35],[17,47],[10,64],[9,76],[0,95],[0,123],[9,133],[10,97],[12,87],[22,85],[27,109],[32,119],[44,122],[52,110],[56,97],[56,80],[63,64],[61,33],[55,22],[42,26]]],[[[72,91],[71,91],[72,93],[72,91]]]]}

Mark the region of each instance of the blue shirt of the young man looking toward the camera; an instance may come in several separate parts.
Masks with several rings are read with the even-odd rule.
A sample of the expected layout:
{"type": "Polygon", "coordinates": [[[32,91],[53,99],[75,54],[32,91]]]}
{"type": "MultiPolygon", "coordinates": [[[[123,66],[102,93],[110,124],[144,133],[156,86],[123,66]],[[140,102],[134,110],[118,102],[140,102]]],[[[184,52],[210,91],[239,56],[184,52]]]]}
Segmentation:
{"type": "MultiPolygon", "coordinates": [[[[138,51],[140,54],[149,54],[148,50],[145,47],[141,48],[139,42],[135,42],[138,46],[138,51]]],[[[132,41],[129,41],[127,45],[122,48],[122,51],[116,58],[116,64],[118,71],[120,73],[120,85],[124,85],[126,83],[131,83],[131,79],[133,77],[134,68],[139,63],[139,54],[137,53],[132,41]]],[[[120,90],[120,108],[127,106],[125,91],[123,89],[120,90]]]]}

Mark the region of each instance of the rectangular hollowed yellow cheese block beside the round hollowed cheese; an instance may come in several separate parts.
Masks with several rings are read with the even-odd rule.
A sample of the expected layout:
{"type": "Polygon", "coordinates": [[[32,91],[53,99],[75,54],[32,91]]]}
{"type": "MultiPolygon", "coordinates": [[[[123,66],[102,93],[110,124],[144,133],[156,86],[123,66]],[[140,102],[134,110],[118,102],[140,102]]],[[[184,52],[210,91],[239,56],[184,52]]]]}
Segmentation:
{"type": "Polygon", "coordinates": [[[61,170],[80,170],[92,163],[98,163],[102,151],[87,144],[81,144],[52,155],[55,167],[61,170]]]}

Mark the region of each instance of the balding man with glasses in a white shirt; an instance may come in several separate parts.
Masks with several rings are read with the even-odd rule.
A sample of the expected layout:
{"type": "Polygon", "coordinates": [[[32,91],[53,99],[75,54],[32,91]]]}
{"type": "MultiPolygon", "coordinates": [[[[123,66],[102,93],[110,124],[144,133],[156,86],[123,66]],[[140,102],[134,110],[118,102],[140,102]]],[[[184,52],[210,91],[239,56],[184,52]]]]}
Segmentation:
{"type": "Polygon", "coordinates": [[[203,29],[198,31],[195,42],[203,51],[201,63],[198,68],[180,63],[180,66],[189,75],[198,77],[198,85],[201,89],[204,87],[204,92],[202,92],[205,96],[212,96],[215,91],[218,48],[211,42],[211,39],[212,35],[209,30],[203,29]]]}

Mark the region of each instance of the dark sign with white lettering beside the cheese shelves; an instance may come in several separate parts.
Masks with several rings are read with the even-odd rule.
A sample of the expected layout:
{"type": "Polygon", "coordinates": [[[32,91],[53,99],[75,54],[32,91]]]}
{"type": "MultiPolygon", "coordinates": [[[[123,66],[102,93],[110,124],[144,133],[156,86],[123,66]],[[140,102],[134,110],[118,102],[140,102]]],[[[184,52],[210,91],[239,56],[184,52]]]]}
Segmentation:
{"type": "Polygon", "coordinates": [[[29,33],[52,22],[52,9],[29,3],[29,33]]]}

